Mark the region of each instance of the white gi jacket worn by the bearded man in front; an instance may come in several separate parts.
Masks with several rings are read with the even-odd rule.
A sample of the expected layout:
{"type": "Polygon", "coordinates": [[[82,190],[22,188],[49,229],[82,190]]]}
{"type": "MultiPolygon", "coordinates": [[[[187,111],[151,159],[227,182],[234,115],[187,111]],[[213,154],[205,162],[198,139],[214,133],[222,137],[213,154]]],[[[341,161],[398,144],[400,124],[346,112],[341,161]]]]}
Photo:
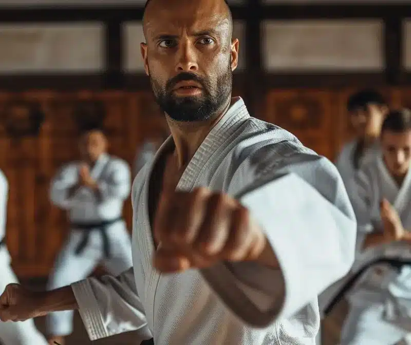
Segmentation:
{"type": "MultiPolygon", "coordinates": [[[[160,151],[167,145],[172,138],[160,151]]],[[[72,284],[90,339],[146,328],[156,345],[313,344],[317,295],[354,258],[357,224],[334,165],[289,132],[250,117],[238,98],[177,189],[207,186],[238,198],[264,228],[281,270],[241,262],[170,275],[152,266],[152,166],[133,185],[134,270],[72,284]]]]}

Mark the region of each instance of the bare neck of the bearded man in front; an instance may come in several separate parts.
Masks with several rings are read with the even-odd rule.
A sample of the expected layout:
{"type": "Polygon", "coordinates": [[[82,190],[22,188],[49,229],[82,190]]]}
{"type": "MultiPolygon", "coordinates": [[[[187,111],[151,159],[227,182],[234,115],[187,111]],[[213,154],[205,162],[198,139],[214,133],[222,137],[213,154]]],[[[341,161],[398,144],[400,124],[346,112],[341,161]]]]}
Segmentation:
{"type": "Polygon", "coordinates": [[[178,168],[182,168],[190,162],[201,143],[206,139],[211,129],[222,119],[230,105],[231,102],[228,101],[221,110],[216,112],[215,116],[207,121],[177,122],[168,116],[166,117],[174,140],[174,155],[177,159],[178,168]]]}

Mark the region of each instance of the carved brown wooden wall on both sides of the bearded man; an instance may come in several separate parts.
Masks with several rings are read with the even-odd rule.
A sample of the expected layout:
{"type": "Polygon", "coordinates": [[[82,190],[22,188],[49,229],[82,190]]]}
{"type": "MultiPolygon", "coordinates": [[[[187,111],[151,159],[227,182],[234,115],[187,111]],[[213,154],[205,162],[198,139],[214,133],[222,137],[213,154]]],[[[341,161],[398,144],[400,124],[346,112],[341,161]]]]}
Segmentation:
{"type": "MultiPolygon", "coordinates": [[[[269,90],[265,111],[256,117],[290,130],[306,146],[333,160],[350,137],[346,101],[353,91],[269,90]]],[[[380,91],[393,107],[411,107],[411,89],[380,91]]],[[[233,94],[245,96],[241,87],[236,87],[233,94]]],[[[74,114],[79,105],[98,102],[103,106],[109,151],[130,166],[144,140],[157,137],[167,126],[150,91],[0,93],[0,120],[4,120],[5,106],[11,100],[38,104],[45,121],[38,136],[20,140],[11,136],[5,121],[0,121],[0,168],[10,185],[7,244],[18,276],[46,276],[67,235],[66,215],[50,205],[49,184],[63,164],[78,158],[78,124],[74,114]]],[[[131,231],[129,199],[124,217],[131,231]]]]}

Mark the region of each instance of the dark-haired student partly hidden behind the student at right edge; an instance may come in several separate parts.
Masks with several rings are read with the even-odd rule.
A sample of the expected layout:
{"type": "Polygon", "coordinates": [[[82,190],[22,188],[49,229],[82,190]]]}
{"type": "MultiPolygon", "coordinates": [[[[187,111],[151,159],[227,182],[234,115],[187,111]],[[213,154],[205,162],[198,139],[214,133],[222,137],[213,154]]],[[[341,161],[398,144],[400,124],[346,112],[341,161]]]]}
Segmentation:
{"type": "Polygon", "coordinates": [[[361,90],[349,97],[347,110],[356,138],[344,145],[335,161],[344,183],[354,177],[362,163],[378,152],[381,124],[388,107],[377,91],[361,90]]]}

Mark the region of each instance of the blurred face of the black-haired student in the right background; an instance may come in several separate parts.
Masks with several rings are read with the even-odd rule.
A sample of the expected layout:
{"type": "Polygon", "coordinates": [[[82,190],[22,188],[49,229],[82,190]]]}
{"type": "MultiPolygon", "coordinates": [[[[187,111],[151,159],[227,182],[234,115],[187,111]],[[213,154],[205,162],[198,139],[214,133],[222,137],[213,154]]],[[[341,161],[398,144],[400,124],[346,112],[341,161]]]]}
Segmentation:
{"type": "Polygon", "coordinates": [[[367,104],[351,113],[351,123],[359,138],[378,138],[386,114],[386,107],[367,104]]]}

